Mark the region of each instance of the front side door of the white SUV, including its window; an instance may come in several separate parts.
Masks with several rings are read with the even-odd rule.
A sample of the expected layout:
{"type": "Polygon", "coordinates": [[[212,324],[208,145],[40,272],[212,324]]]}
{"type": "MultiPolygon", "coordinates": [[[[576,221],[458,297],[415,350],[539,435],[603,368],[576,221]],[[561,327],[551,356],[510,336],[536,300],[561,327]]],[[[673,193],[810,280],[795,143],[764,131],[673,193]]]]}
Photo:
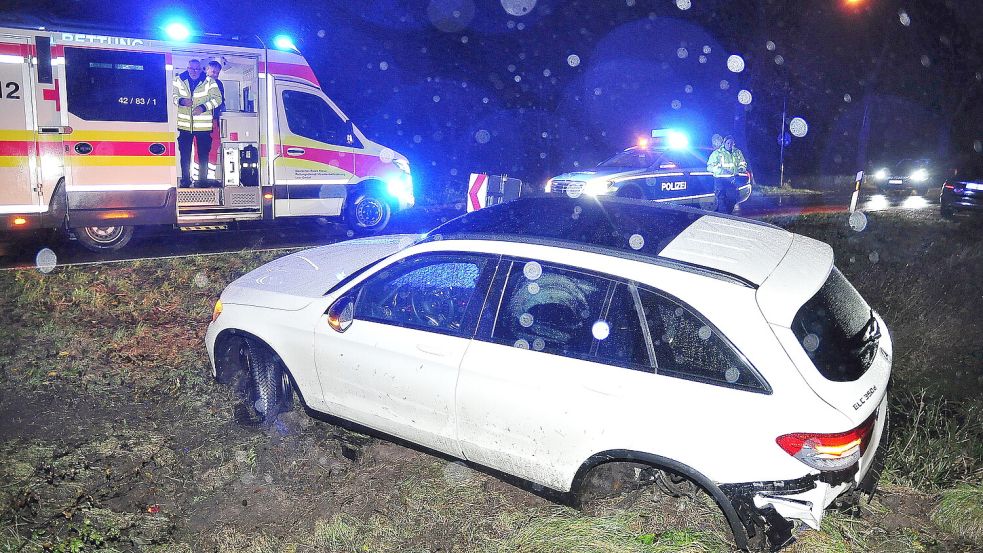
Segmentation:
{"type": "MultiPolygon", "coordinates": [[[[341,300],[354,320],[315,331],[315,363],[336,414],[455,456],[454,394],[497,258],[435,252],[366,278],[341,300]]],[[[340,301],[340,300],[339,300],[340,301]]]]}

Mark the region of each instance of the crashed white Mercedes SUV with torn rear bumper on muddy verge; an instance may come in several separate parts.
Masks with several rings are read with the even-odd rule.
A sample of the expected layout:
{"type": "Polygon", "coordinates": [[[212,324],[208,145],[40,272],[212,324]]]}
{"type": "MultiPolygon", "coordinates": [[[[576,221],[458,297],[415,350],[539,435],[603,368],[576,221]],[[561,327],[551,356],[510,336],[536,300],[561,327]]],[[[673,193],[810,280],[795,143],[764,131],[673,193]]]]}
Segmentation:
{"type": "Polygon", "coordinates": [[[611,463],[695,484],[739,547],[872,492],[891,339],[822,242],[688,208],[539,197],[294,253],[207,347],[260,418],[359,425],[578,497],[611,463]]]}

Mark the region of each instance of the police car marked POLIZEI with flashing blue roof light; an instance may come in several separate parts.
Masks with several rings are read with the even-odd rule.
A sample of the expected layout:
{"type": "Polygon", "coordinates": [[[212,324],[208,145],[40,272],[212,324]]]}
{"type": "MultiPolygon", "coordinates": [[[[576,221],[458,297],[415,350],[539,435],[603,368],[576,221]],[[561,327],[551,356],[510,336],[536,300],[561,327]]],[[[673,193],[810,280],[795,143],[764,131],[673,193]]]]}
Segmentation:
{"type": "MultiPolygon", "coordinates": [[[[610,195],[714,210],[714,177],[707,171],[711,151],[641,142],[589,171],[549,179],[545,191],[571,197],[610,195]]],[[[751,196],[750,171],[738,173],[735,181],[740,204],[751,196]]]]}

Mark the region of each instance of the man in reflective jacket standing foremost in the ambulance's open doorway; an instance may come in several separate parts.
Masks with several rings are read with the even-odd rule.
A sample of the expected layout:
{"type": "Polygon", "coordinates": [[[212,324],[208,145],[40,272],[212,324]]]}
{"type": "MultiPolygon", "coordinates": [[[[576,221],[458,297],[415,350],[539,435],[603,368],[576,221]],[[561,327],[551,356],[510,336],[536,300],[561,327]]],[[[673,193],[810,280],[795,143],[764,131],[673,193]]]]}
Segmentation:
{"type": "Polygon", "coordinates": [[[174,77],[174,104],[177,106],[178,151],[181,153],[181,187],[191,186],[191,145],[197,143],[198,174],[205,177],[208,153],[212,149],[212,110],[222,103],[214,79],[205,75],[201,62],[191,60],[188,70],[174,77]]]}

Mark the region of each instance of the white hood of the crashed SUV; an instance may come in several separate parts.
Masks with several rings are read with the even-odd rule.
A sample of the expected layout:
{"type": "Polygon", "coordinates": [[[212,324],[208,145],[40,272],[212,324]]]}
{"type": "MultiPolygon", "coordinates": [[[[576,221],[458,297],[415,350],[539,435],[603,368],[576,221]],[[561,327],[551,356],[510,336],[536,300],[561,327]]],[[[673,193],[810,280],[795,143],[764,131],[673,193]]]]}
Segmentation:
{"type": "Polygon", "coordinates": [[[222,303],[302,309],[352,272],[419,238],[418,234],[373,236],[292,253],[236,279],[222,292],[222,303]]]}

